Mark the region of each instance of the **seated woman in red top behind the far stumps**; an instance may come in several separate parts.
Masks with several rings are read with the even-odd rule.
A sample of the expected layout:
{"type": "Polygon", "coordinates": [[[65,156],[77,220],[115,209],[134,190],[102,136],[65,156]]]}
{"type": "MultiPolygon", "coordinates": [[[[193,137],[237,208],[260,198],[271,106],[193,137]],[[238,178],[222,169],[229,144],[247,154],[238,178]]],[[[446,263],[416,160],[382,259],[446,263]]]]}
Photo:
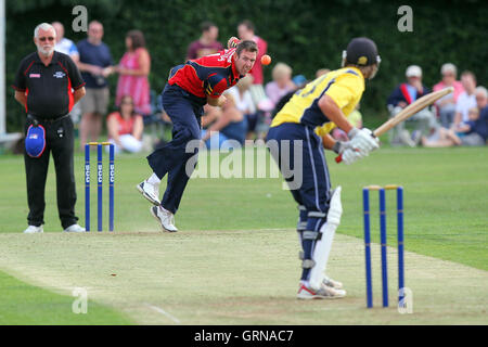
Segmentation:
{"type": "Polygon", "coordinates": [[[142,116],[134,112],[130,95],[123,97],[120,110],[107,116],[106,128],[108,141],[115,144],[115,153],[123,151],[138,153],[142,150],[144,125],[142,116]]]}

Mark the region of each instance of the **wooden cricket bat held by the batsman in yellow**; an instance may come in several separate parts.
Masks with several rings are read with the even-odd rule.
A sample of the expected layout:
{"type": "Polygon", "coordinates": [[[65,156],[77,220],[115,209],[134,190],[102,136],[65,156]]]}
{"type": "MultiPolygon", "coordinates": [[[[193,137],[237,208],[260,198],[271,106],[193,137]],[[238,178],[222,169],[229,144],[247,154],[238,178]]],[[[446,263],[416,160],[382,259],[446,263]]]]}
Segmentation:
{"type": "MultiPolygon", "coordinates": [[[[402,111],[400,111],[395,117],[388,119],[387,121],[382,124],[380,127],[374,129],[373,136],[377,138],[377,137],[384,134],[386,131],[396,127],[403,120],[410,118],[411,116],[416,114],[419,111],[427,107],[428,105],[433,104],[434,102],[436,102],[444,95],[447,95],[453,91],[454,91],[454,88],[449,87],[449,88],[445,88],[442,90],[439,90],[439,91],[436,91],[436,92],[433,92],[433,93],[429,93],[429,94],[426,94],[426,95],[420,98],[419,100],[416,100],[415,102],[411,103],[410,105],[404,107],[402,111]]],[[[342,160],[343,160],[343,157],[341,155],[338,155],[335,158],[336,163],[341,163],[342,160]]]]}

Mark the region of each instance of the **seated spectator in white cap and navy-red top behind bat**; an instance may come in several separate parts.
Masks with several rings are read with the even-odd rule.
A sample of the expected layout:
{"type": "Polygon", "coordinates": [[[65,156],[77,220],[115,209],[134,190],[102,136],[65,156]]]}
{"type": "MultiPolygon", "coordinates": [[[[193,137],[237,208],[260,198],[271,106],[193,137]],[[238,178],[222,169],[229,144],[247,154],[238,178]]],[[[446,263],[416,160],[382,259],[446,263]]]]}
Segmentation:
{"type": "MultiPolygon", "coordinates": [[[[422,69],[420,68],[420,66],[409,66],[406,72],[406,76],[407,83],[401,83],[400,86],[398,86],[388,97],[387,105],[391,117],[394,117],[401,110],[407,107],[419,98],[424,97],[425,94],[428,94],[431,92],[427,87],[422,85],[422,69]]],[[[427,136],[437,128],[436,118],[428,108],[424,108],[418,112],[410,119],[420,123],[420,125],[415,129],[420,130],[420,134],[427,136]]],[[[404,123],[400,123],[390,131],[393,131],[394,133],[391,139],[393,143],[402,142],[410,146],[415,146],[415,141],[410,138],[408,130],[404,129],[404,123]],[[397,134],[395,134],[395,132],[397,132],[397,134]]]]}

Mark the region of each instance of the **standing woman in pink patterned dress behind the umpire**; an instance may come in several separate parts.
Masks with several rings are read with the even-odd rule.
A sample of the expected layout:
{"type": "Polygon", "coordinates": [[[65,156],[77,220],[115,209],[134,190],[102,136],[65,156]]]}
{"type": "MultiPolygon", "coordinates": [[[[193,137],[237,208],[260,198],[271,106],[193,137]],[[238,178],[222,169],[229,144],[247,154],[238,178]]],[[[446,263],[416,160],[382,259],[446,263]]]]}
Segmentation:
{"type": "Polygon", "coordinates": [[[145,49],[144,35],[140,30],[127,33],[126,48],[120,63],[114,68],[119,74],[115,105],[119,107],[124,95],[130,95],[134,111],[150,115],[151,93],[147,76],[151,70],[151,56],[145,49]]]}

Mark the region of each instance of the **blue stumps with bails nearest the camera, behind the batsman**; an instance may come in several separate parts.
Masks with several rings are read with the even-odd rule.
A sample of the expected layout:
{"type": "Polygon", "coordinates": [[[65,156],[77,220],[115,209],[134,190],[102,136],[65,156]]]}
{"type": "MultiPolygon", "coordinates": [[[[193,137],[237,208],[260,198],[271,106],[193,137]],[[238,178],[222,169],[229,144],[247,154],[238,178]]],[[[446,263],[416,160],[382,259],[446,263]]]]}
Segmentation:
{"type": "Polygon", "coordinates": [[[383,307],[388,307],[388,268],[386,258],[386,194],[387,190],[397,191],[397,241],[398,241],[398,303],[402,303],[404,287],[403,269],[403,188],[389,184],[385,187],[369,185],[362,189],[364,213],[364,254],[367,278],[367,305],[373,307],[373,284],[371,272],[371,230],[370,230],[370,191],[380,193],[380,241],[382,261],[383,307]]]}

